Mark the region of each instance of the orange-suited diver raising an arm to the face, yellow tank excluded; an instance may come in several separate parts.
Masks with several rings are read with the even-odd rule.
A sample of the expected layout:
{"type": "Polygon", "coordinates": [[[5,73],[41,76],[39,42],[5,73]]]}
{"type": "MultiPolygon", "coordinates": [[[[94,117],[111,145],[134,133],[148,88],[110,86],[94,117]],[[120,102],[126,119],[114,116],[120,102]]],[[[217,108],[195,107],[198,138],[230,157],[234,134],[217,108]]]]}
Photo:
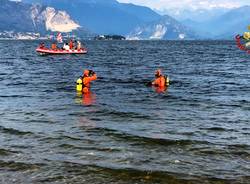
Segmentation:
{"type": "Polygon", "coordinates": [[[82,92],[90,92],[90,82],[97,79],[97,75],[93,70],[84,70],[82,76],[82,92]]]}

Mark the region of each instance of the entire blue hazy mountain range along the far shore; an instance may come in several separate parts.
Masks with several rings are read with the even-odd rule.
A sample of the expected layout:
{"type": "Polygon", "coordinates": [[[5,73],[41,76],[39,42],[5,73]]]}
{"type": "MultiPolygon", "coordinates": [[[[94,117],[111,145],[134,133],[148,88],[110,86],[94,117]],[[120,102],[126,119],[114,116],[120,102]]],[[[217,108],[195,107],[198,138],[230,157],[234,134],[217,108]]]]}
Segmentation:
{"type": "Polygon", "coordinates": [[[129,39],[231,39],[246,30],[249,10],[244,6],[210,14],[187,10],[162,16],[148,7],[116,0],[0,0],[0,33],[46,35],[60,31],[81,37],[120,34],[129,39]]]}

